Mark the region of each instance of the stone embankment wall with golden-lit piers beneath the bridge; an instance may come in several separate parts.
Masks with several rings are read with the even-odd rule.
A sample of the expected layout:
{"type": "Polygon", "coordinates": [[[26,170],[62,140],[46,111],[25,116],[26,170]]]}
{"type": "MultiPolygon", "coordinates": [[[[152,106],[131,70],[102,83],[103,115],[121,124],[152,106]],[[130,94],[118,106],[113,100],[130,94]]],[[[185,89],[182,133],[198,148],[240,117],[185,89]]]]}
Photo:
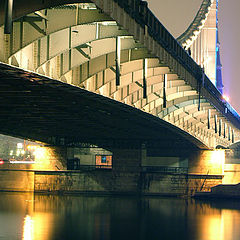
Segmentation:
{"type": "Polygon", "coordinates": [[[191,196],[196,191],[210,191],[211,187],[222,183],[224,176],[225,155],[222,150],[193,151],[185,157],[168,156],[165,159],[164,156],[149,157],[146,149],[141,148],[112,149],[112,169],[91,170],[66,170],[66,148],[44,147],[40,152],[48,153],[42,155],[47,158],[31,169],[11,169],[10,165],[8,169],[0,169],[0,190],[191,196]],[[145,163],[152,161],[155,164],[169,161],[172,166],[181,165],[184,159],[188,172],[163,172],[157,167],[154,170],[153,166],[147,171],[142,166],[143,159],[145,163]],[[62,168],[56,168],[56,164],[62,168]]]}

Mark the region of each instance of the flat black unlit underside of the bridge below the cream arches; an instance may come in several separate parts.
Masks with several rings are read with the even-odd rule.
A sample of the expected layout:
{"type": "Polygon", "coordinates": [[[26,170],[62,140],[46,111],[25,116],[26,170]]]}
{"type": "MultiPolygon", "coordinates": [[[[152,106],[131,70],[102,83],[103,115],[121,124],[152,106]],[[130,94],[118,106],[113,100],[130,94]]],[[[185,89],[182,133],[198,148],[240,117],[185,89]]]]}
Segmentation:
{"type": "Polygon", "coordinates": [[[206,148],[188,133],[136,108],[0,64],[0,128],[41,142],[105,148],[206,148]]]}

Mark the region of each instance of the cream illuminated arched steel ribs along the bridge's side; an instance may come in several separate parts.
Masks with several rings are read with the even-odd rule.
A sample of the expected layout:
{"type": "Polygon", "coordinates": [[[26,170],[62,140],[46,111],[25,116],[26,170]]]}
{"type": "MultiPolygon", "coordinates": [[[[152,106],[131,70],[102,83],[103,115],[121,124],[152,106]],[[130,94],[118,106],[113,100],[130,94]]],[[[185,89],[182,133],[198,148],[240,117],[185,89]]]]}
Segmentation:
{"type": "Polygon", "coordinates": [[[11,34],[0,28],[0,59],[158,116],[210,148],[237,140],[238,129],[193,76],[163,48],[154,54],[121,19],[94,3],[37,11],[14,21],[11,34]]]}

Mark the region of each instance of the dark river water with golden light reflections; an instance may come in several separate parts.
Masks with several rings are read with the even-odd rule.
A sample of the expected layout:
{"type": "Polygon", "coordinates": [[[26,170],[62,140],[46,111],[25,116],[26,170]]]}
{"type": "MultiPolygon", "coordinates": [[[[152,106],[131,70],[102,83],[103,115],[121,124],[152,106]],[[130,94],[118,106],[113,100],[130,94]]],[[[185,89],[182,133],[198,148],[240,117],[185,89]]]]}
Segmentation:
{"type": "Polygon", "coordinates": [[[240,240],[240,201],[0,193],[0,240],[240,240]]]}

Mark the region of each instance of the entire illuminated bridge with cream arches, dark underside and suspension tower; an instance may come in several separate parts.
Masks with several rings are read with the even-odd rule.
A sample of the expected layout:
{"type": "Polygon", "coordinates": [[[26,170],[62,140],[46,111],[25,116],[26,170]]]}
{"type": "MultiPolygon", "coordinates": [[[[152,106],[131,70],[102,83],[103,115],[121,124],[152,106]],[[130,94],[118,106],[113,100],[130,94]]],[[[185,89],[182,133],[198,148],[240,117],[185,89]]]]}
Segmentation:
{"type": "Polygon", "coordinates": [[[203,0],[176,40],[141,0],[1,1],[1,133],[121,161],[132,148],[136,166],[143,146],[229,147],[240,117],[222,96],[217,7],[203,0]]]}

